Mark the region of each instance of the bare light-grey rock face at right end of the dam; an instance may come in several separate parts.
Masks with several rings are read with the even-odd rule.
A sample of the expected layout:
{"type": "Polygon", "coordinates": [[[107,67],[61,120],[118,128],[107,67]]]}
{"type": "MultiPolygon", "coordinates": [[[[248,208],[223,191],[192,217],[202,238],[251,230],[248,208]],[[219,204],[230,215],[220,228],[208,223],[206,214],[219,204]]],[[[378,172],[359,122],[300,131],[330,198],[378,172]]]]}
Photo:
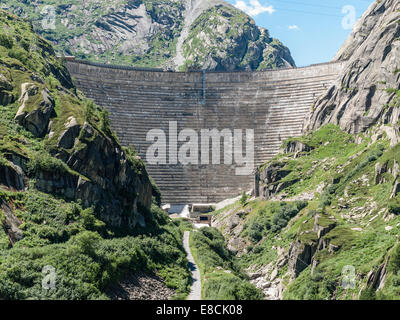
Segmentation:
{"type": "Polygon", "coordinates": [[[336,60],[348,59],[316,103],[306,130],[334,123],[349,133],[400,119],[400,2],[376,1],[358,21],[336,60]]]}

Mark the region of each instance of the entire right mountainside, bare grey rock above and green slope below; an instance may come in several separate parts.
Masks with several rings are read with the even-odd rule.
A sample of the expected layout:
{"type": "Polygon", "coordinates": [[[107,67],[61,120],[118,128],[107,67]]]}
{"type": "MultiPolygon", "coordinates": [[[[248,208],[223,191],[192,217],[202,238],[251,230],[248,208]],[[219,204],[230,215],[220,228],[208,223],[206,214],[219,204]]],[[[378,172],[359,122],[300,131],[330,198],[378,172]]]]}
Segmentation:
{"type": "Polygon", "coordinates": [[[400,297],[399,9],[371,5],[304,135],[258,168],[255,197],[216,213],[267,299],[400,297]]]}

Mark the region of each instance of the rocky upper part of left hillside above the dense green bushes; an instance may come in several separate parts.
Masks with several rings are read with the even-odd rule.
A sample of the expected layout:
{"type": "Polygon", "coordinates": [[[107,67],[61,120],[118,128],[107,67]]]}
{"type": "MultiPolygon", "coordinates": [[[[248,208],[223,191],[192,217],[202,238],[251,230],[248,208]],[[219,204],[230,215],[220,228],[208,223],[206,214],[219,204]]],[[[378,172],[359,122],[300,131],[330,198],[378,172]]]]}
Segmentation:
{"type": "Polygon", "coordinates": [[[81,201],[112,227],[144,227],[154,191],[143,162],[120,145],[107,113],[77,92],[51,45],[17,17],[0,10],[0,18],[7,34],[17,33],[18,24],[23,35],[10,40],[12,49],[0,43],[6,56],[8,50],[20,52],[18,59],[10,60],[11,53],[0,57],[0,98],[6,110],[20,88],[14,121],[4,119],[8,129],[0,136],[0,185],[81,201]],[[22,139],[17,124],[31,134],[25,132],[22,139]]]}

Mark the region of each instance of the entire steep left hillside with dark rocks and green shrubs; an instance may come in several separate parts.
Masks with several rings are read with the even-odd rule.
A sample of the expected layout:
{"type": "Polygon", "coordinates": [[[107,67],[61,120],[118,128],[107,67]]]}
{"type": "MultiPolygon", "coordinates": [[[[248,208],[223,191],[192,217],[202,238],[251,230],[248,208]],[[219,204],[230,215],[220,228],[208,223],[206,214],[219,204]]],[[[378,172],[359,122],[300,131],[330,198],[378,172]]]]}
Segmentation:
{"type": "Polygon", "coordinates": [[[188,293],[182,232],[143,162],[52,45],[3,10],[0,110],[1,300],[129,297],[136,274],[158,298],[188,293]]]}

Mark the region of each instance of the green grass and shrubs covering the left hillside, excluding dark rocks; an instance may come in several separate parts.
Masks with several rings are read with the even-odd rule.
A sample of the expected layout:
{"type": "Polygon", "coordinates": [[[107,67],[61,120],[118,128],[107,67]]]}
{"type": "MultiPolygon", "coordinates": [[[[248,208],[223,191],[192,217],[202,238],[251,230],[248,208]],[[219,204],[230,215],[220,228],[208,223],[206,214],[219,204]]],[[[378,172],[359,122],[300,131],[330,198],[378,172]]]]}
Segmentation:
{"type": "MultiPolygon", "coordinates": [[[[42,110],[42,100],[34,93],[26,100],[26,112],[42,110]]],[[[182,231],[156,205],[160,201],[156,191],[151,208],[139,208],[145,225],[118,228],[103,219],[101,205],[88,206],[85,196],[71,197],[66,189],[59,194],[39,190],[42,179],[49,179],[47,186],[52,183],[54,188],[75,177],[95,184],[71,169],[63,161],[65,155],[102,141],[119,144],[107,113],[75,89],[50,43],[28,23],[2,10],[0,100],[0,299],[108,299],[110,285],[136,271],[157,274],[176,290],[175,298],[185,297],[190,272],[182,231]],[[15,122],[23,83],[35,84],[39,92],[48,90],[54,99],[52,135],[38,137],[15,122]],[[85,138],[81,131],[72,149],[60,148],[64,124],[71,116],[81,126],[89,123],[96,135],[85,138]],[[7,172],[21,177],[23,188],[10,185],[7,172]],[[55,271],[54,289],[42,286],[46,270],[55,271]]],[[[143,162],[134,151],[124,150],[129,168],[144,179],[143,162]]],[[[117,201],[111,191],[108,197],[117,201]]]]}

